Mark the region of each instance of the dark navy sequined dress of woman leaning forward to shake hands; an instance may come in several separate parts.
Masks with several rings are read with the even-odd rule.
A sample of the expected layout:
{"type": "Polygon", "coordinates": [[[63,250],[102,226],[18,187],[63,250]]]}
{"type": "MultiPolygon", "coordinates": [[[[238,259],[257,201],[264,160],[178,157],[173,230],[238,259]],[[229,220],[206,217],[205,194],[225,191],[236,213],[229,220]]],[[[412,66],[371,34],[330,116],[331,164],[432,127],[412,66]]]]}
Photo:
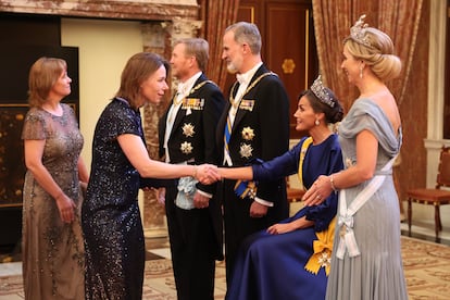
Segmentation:
{"type": "Polygon", "coordinates": [[[143,140],[139,111],[114,99],[95,132],[92,165],[83,203],[86,247],[86,299],[141,299],[143,232],[138,207],[139,173],[117,136],[143,140]]]}

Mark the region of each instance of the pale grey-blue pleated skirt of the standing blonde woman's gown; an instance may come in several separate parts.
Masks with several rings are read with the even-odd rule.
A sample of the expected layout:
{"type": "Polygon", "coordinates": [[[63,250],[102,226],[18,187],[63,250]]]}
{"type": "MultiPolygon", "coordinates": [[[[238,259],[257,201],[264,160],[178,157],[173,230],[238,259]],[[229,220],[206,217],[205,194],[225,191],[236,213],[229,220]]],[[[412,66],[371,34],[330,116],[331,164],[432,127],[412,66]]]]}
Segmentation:
{"type": "MultiPolygon", "coordinates": [[[[328,279],[328,300],[408,299],[400,246],[400,211],[392,177],[354,215],[354,235],[361,255],[343,260],[335,257],[339,228],[335,233],[334,255],[328,279]]],[[[354,199],[362,187],[347,189],[354,199]]],[[[339,199],[340,201],[340,199],[339,199]]]]}

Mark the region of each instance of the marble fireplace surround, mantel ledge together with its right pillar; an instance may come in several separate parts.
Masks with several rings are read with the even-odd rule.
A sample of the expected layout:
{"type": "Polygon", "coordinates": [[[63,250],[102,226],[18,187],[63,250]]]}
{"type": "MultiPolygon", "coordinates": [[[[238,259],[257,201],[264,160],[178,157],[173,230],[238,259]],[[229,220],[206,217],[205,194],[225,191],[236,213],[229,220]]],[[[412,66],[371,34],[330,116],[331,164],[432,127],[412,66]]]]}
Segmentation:
{"type": "MultiPolygon", "coordinates": [[[[166,58],[175,39],[195,37],[202,26],[197,0],[0,0],[0,12],[140,21],[142,50],[166,58]]],[[[158,120],[163,111],[164,105],[143,109],[147,148],[154,160],[159,159],[158,120]]],[[[141,213],[146,237],[166,236],[165,211],[154,191],[143,192],[141,213]]]]}

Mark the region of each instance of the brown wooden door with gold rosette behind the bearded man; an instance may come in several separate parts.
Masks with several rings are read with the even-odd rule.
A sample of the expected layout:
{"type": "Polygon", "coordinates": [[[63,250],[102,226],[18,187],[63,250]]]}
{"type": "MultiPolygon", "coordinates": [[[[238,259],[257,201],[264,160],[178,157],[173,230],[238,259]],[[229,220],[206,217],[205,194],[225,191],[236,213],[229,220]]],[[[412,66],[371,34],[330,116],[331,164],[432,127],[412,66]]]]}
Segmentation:
{"type": "MultiPolygon", "coordinates": [[[[290,138],[300,138],[293,117],[297,98],[318,72],[311,0],[242,0],[237,21],[260,28],[263,62],[278,74],[289,95],[290,138]]],[[[226,86],[233,82],[228,76],[226,86]]]]}

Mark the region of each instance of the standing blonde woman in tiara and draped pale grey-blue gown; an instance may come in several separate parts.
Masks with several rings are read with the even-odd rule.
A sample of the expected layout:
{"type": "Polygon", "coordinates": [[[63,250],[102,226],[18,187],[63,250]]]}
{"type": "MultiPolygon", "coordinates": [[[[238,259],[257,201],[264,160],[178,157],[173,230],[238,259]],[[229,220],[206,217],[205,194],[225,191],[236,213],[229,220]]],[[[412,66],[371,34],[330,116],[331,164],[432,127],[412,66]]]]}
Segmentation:
{"type": "Polygon", "coordinates": [[[396,99],[385,82],[400,74],[391,39],[362,16],[345,39],[345,71],[360,97],[339,126],[346,170],[320,176],[307,205],[339,189],[338,222],[326,299],[408,299],[400,247],[400,210],[392,163],[402,134],[396,99]]]}

